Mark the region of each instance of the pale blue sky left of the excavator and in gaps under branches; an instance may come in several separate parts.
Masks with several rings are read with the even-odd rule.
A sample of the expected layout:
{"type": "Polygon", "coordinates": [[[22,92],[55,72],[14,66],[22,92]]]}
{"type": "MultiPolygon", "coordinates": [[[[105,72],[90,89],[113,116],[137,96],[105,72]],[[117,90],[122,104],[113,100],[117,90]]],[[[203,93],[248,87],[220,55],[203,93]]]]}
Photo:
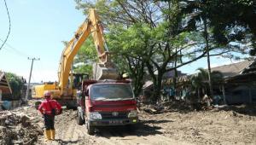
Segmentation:
{"type": "MultiPolygon", "coordinates": [[[[32,82],[57,81],[57,70],[64,45],[84,21],[82,11],[73,0],[7,0],[11,32],[7,44],[0,50],[0,70],[16,73],[28,80],[31,61],[34,62],[32,82]]],[[[0,39],[4,40],[9,20],[3,0],[0,1],[0,39]]],[[[2,43],[0,41],[0,43],[2,43]]],[[[212,67],[229,64],[228,59],[212,58],[212,67]]],[[[183,73],[194,73],[207,67],[206,58],[182,67],[183,73]]]]}

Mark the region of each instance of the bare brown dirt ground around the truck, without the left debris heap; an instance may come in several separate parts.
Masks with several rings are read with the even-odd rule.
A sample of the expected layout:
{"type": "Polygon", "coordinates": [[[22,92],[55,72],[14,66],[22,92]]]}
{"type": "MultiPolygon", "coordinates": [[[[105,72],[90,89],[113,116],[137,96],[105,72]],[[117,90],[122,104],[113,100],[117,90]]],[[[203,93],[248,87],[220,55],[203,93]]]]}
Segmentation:
{"type": "Polygon", "coordinates": [[[38,144],[256,144],[256,117],[234,111],[140,113],[136,131],[125,127],[99,129],[95,136],[76,124],[76,113],[56,117],[56,141],[38,144]]]}

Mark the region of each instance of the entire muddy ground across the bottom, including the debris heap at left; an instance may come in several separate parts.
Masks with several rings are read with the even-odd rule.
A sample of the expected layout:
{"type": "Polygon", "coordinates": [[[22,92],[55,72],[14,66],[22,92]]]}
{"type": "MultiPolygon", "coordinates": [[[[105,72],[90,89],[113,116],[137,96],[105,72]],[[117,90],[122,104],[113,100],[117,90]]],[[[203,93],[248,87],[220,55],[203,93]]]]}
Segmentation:
{"type": "Polygon", "coordinates": [[[75,110],[64,110],[55,118],[56,140],[44,142],[42,115],[34,107],[20,107],[0,113],[8,115],[1,121],[0,144],[256,144],[255,105],[195,110],[142,111],[137,130],[104,127],[94,136],[77,125],[75,110]]]}

